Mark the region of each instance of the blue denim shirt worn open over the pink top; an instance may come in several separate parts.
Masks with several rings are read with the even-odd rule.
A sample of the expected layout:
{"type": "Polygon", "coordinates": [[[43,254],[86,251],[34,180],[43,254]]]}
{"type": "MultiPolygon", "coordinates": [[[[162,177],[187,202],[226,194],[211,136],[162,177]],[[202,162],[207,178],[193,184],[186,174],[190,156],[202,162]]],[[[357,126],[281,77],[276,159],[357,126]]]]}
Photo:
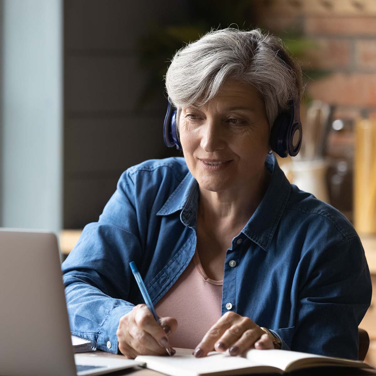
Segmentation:
{"type": "MultiPolygon", "coordinates": [[[[222,314],[267,327],[283,349],[358,359],[358,325],[371,301],[359,237],[339,211],[291,185],[274,156],[265,166],[264,198],[226,252],[222,314]]],[[[73,334],[118,352],[120,318],[143,303],[129,262],[156,304],[194,255],[198,200],[183,158],[124,171],[62,264],[73,334]]]]}

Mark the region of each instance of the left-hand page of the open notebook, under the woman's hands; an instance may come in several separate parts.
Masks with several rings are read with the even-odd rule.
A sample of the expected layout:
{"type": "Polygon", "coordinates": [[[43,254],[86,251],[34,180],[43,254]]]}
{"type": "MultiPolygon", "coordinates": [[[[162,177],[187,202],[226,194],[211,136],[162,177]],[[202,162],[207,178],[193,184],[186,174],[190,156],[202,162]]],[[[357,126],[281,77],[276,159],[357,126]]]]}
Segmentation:
{"type": "Polygon", "coordinates": [[[282,373],[261,362],[250,361],[240,356],[211,352],[204,358],[195,358],[192,350],[176,349],[174,356],[139,355],[136,361],[146,362],[146,367],[171,376],[232,375],[250,373],[282,373]]]}

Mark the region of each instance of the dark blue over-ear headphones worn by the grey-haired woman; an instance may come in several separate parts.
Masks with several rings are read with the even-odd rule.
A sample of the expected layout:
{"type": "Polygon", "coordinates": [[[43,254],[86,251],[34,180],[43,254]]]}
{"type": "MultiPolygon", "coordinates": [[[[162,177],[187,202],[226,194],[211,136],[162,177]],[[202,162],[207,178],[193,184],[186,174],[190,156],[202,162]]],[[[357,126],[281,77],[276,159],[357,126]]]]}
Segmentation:
{"type": "MultiPolygon", "coordinates": [[[[289,110],[281,112],[274,120],[270,132],[270,147],[280,157],[292,157],[299,153],[302,144],[302,123],[300,123],[299,102],[291,99],[289,110]]],[[[176,108],[168,98],[167,112],[163,124],[163,138],[166,146],[182,150],[179,137],[176,133],[176,108]]]]}

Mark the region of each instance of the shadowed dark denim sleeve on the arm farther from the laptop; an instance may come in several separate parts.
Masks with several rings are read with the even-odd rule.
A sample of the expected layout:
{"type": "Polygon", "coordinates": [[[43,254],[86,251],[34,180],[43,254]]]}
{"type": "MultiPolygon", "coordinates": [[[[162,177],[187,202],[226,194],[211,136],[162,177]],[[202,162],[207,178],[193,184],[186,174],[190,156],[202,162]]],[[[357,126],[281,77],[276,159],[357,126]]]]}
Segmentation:
{"type": "Polygon", "coordinates": [[[359,238],[308,253],[300,268],[302,287],[291,350],[358,359],[358,325],[372,292],[359,238]]]}

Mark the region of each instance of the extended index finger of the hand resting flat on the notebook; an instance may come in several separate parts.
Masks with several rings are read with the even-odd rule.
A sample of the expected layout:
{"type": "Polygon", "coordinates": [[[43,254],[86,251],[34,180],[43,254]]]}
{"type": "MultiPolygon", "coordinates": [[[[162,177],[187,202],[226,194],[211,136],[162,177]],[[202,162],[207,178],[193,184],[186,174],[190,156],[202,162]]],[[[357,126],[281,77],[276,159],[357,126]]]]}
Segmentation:
{"type": "Polygon", "coordinates": [[[202,341],[196,347],[193,355],[196,358],[208,355],[212,351],[215,343],[222,337],[223,333],[229,329],[236,321],[242,317],[235,312],[227,312],[224,314],[205,334],[202,341]]]}

